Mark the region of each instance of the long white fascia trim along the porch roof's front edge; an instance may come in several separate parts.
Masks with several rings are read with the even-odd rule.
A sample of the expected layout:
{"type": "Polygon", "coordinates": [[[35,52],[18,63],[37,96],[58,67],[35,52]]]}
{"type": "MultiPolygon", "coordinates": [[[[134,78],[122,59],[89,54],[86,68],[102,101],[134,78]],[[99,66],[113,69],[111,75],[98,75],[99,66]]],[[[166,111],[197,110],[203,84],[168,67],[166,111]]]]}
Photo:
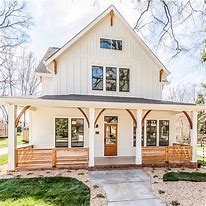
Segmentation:
{"type": "Polygon", "coordinates": [[[175,105],[175,104],[148,104],[148,103],[126,103],[126,102],[99,102],[99,101],[68,101],[40,99],[38,97],[0,97],[1,105],[17,104],[18,106],[31,105],[32,107],[95,107],[110,109],[138,109],[143,110],[168,110],[168,111],[203,111],[206,105],[175,105]]]}

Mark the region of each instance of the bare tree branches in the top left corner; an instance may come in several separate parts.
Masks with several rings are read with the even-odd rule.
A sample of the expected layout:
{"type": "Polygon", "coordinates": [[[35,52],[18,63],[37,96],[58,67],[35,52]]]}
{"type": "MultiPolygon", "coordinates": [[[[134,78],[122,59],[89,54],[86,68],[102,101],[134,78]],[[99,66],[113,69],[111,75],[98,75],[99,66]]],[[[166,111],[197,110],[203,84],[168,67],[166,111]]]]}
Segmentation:
{"type": "Polygon", "coordinates": [[[25,43],[27,30],[32,25],[32,18],[27,12],[26,3],[16,0],[0,2],[0,66],[8,54],[14,55],[12,49],[25,43]]]}

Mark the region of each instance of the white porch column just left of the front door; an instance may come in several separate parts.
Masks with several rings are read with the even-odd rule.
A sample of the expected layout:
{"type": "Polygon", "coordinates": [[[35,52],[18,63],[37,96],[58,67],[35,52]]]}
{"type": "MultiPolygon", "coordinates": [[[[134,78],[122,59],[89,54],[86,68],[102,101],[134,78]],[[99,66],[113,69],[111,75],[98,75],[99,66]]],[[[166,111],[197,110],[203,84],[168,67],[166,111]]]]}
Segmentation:
{"type": "Polygon", "coordinates": [[[94,167],[94,115],[95,109],[89,108],[89,167],[94,167]]]}

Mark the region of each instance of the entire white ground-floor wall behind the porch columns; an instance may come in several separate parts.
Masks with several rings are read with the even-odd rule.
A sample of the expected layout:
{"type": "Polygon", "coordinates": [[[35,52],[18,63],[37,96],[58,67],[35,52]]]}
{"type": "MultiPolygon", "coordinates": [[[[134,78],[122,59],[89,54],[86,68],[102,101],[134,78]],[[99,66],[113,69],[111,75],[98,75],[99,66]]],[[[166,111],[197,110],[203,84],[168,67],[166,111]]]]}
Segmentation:
{"type": "MultiPolygon", "coordinates": [[[[84,109],[88,115],[88,109],[84,109]]],[[[95,110],[95,118],[100,109],[95,110]]],[[[143,114],[146,111],[143,112],[143,114]]],[[[132,110],[135,115],[135,110],[132,110]]],[[[146,137],[146,121],[170,120],[169,144],[172,145],[175,138],[175,112],[152,111],[145,119],[144,137],[146,137]]],[[[135,156],[135,147],[133,147],[133,120],[126,110],[105,110],[97,121],[98,128],[95,128],[94,136],[94,156],[104,156],[104,116],[118,116],[117,131],[117,156],[135,156]],[[99,134],[96,134],[96,131],[99,134]]],[[[32,114],[32,142],[36,148],[54,148],[55,147],[55,118],[69,119],[69,147],[71,145],[71,118],[84,118],[78,109],[72,108],[36,108],[32,114]]],[[[157,128],[157,140],[159,139],[159,127],[157,128]]],[[[146,143],[146,138],[145,138],[146,143]]],[[[84,146],[88,147],[88,125],[84,118],[84,146]]]]}

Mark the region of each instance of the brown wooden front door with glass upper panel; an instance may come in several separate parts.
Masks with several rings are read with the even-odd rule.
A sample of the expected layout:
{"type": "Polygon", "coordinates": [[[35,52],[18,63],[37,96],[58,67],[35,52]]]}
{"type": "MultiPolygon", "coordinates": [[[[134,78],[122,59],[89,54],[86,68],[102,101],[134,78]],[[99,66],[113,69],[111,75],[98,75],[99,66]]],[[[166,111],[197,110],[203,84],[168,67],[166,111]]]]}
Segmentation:
{"type": "Polygon", "coordinates": [[[104,156],[117,155],[117,124],[104,125],[104,156]]]}

